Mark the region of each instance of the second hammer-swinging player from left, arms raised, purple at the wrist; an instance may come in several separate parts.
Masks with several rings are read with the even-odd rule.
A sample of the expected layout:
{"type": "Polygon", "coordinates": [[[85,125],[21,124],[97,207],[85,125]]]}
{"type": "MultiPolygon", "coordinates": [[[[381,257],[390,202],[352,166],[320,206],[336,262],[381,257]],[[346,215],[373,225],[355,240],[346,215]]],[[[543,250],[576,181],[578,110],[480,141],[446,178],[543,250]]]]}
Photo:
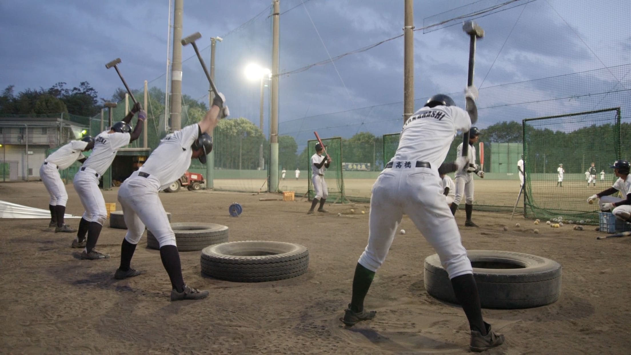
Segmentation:
{"type": "Polygon", "coordinates": [[[117,150],[138,139],[143,131],[143,121],[146,118],[147,114],[142,110],[141,105],[136,104],[121,122],[117,122],[111,129],[99,133],[94,138],[94,148],[90,157],[74,176],[74,190],[79,194],[85,212],[83,212],[83,217],[79,222],[79,231],[72,247],[83,248],[82,259],[99,260],[110,257],[94,250],[105,219],[107,219],[105,200],[98,188],[98,180],[114,161],[117,150]],[[129,122],[136,112],[138,112],[138,122],[132,132],[129,122]],[[86,233],[88,234],[87,239],[86,233]]]}

